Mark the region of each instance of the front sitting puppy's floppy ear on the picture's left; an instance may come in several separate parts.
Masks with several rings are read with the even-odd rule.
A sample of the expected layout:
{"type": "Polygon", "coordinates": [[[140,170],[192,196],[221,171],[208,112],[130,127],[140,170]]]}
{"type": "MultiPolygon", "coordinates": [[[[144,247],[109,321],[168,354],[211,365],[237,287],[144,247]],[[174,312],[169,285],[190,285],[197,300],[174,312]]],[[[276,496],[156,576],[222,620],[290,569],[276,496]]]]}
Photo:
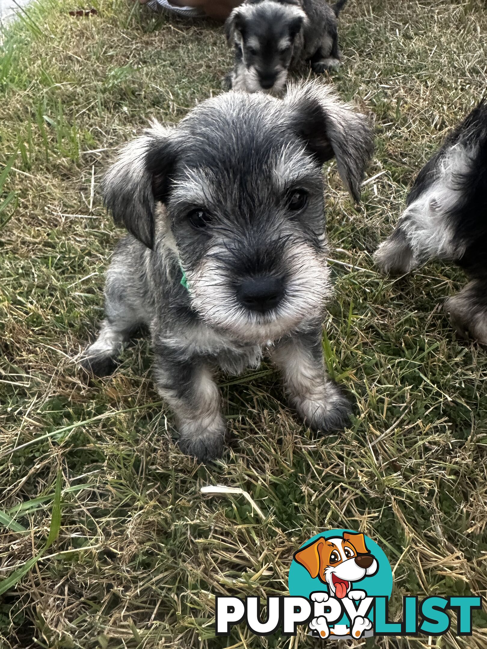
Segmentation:
{"type": "Polygon", "coordinates": [[[117,225],[123,225],[148,248],[154,245],[156,201],[164,201],[168,174],[175,161],[173,131],[153,123],[151,129],[121,149],[103,178],[103,201],[117,225]]]}

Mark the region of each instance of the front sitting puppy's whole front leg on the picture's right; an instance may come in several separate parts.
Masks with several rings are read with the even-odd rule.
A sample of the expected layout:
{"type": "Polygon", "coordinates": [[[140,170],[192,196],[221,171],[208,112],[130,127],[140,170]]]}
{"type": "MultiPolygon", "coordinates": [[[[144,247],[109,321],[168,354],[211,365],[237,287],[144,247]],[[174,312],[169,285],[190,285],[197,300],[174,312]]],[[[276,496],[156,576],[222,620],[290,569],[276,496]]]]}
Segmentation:
{"type": "Polygon", "coordinates": [[[349,423],[349,401],[325,372],[321,324],[277,343],[273,362],[284,376],[284,389],[299,416],[312,430],[341,430],[349,423]]]}

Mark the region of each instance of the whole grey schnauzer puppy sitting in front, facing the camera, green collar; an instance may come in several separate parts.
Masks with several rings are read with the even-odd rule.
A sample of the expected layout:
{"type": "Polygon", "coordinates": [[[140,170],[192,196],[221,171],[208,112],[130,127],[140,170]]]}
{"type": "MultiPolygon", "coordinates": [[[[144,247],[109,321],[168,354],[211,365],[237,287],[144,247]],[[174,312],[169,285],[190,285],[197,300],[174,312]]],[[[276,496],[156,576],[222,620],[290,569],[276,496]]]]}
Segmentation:
{"type": "Polygon", "coordinates": [[[224,441],[214,369],[240,373],[263,352],[310,428],[345,426],[349,403],[321,345],[331,293],[321,165],[336,156],[358,200],[372,148],[366,117],[315,84],[282,100],[229,92],[176,128],[154,123],[104,180],[106,205],[130,234],[108,269],[106,317],[85,369],[111,371],[147,325],[179,444],[201,460],[224,441]]]}

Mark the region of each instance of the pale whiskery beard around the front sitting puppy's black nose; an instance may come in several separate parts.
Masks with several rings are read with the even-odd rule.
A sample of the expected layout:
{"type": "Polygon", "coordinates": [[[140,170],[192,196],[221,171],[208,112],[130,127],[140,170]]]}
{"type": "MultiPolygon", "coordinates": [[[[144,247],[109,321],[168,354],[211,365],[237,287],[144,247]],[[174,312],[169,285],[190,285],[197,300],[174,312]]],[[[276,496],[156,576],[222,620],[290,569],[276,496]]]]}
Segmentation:
{"type": "Polygon", "coordinates": [[[232,287],[232,269],[216,261],[222,252],[214,248],[194,272],[187,273],[192,305],[208,326],[247,344],[265,344],[323,310],[331,293],[328,267],[325,256],[309,245],[295,245],[280,263],[286,269],[284,297],[266,313],[240,304],[232,287]]]}

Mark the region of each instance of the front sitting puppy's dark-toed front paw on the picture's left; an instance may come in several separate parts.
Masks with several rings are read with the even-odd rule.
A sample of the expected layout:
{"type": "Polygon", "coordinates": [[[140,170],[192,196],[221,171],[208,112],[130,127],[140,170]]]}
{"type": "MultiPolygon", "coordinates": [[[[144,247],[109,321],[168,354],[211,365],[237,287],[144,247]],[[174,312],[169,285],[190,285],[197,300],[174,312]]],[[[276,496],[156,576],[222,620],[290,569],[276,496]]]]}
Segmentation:
{"type": "Polygon", "coordinates": [[[202,422],[186,421],[179,424],[179,448],[186,455],[205,463],[220,458],[225,446],[225,422],[221,417],[210,426],[202,422]]]}

